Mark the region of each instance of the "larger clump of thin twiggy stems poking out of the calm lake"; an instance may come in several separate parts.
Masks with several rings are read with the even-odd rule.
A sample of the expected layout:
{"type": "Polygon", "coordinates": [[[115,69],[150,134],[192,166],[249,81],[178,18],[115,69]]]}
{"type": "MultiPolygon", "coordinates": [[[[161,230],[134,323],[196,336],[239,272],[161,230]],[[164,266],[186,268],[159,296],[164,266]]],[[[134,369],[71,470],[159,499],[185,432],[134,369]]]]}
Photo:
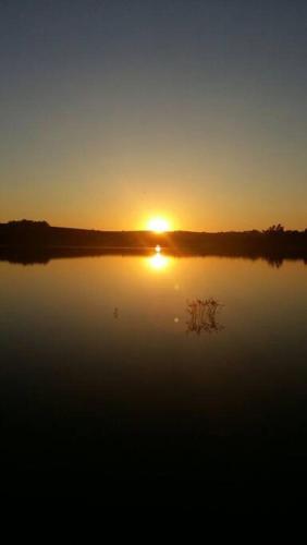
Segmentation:
{"type": "Polygon", "coordinates": [[[195,299],[187,303],[188,320],[186,322],[186,332],[212,334],[224,329],[218,322],[218,314],[222,304],[216,299],[195,299]]]}

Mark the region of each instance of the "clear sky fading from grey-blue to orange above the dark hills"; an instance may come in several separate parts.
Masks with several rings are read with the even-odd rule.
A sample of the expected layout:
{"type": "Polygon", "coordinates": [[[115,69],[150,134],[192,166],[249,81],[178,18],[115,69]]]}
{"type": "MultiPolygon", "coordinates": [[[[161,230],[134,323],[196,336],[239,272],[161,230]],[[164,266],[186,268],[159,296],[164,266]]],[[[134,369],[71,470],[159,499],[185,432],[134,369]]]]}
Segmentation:
{"type": "Polygon", "coordinates": [[[0,0],[0,221],[307,228],[307,2],[0,0]]]}

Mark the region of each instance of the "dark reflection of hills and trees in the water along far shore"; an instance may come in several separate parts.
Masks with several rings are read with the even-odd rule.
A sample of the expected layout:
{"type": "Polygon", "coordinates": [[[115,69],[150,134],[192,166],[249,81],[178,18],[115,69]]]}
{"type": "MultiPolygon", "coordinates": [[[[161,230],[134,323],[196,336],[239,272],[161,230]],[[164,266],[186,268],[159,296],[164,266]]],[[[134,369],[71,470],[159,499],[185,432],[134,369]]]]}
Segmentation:
{"type": "MultiPolygon", "coordinates": [[[[1,246],[0,261],[21,265],[47,265],[52,259],[73,257],[98,257],[103,255],[119,256],[152,256],[152,247],[36,247],[36,246],[1,246]]],[[[197,249],[175,250],[163,247],[164,256],[173,257],[241,257],[245,259],[263,259],[271,267],[279,268],[284,261],[300,261],[307,265],[307,256],[295,252],[271,252],[253,253],[238,251],[213,251],[201,252],[197,249]]],[[[154,254],[156,255],[156,254],[154,254]]]]}

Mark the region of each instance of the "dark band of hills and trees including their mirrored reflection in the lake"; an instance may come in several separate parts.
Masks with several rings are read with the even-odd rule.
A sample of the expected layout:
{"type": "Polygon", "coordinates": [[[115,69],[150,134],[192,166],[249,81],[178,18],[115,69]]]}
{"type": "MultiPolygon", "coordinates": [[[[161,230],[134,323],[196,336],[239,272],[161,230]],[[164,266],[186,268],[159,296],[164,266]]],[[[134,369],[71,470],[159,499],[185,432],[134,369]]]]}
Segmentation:
{"type": "Polygon", "coordinates": [[[307,230],[287,231],[281,225],[265,231],[192,232],[98,231],[51,227],[47,221],[0,223],[0,259],[48,263],[50,258],[106,253],[136,254],[160,244],[174,255],[265,257],[279,265],[284,258],[307,261],[307,230]]]}

